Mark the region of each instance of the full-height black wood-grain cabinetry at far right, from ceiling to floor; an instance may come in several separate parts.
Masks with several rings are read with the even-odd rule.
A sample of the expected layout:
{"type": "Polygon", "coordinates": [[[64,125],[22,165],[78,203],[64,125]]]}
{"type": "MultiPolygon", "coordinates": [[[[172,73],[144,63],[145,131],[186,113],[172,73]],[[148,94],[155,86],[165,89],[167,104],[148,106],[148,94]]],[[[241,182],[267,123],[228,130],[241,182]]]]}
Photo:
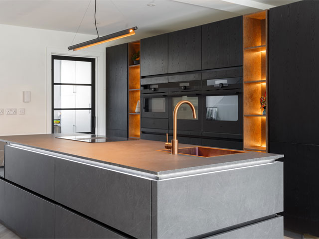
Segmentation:
{"type": "Polygon", "coordinates": [[[284,219],[319,236],[319,1],[269,11],[270,152],[285,154],[284,219]]]}

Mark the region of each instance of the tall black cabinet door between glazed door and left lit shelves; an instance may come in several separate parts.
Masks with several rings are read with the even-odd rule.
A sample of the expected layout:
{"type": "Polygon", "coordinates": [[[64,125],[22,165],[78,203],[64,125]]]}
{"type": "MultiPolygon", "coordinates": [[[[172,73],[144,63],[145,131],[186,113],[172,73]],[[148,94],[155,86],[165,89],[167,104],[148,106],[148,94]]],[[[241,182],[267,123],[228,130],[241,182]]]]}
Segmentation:
{"type": "Polygon", "coordinates": [[[106,48],[106,135],[128,135],[128,44],[106,48]]]}

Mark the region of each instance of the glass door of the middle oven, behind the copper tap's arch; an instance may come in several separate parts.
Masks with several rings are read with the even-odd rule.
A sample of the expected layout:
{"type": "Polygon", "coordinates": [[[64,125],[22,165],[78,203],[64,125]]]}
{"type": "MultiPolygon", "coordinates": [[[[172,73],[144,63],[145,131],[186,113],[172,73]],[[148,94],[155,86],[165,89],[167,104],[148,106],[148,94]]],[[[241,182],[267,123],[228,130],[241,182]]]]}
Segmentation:
{"type": "Polygon", "coordinates": [[[201,96],[199,94],[172,95],[169,97],[169,129],[173,129],[173,112],[175,106],[178,102],[184,100],[190,101],[194,105],[197,118],[193,119],[192,110],[188,105],[181,105],[177,111],[177,130],[201,131],[201,96]]]}

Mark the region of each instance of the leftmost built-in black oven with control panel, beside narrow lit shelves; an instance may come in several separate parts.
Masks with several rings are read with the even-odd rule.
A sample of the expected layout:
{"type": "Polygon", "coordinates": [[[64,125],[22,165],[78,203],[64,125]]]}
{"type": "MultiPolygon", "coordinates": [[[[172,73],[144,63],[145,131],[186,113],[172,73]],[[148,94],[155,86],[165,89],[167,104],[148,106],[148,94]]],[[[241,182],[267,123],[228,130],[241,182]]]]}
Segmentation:
{"type": "Polygon", "coordinates": [[[141,117],[168,118],[168,78],[141,79],[141,117]]]}

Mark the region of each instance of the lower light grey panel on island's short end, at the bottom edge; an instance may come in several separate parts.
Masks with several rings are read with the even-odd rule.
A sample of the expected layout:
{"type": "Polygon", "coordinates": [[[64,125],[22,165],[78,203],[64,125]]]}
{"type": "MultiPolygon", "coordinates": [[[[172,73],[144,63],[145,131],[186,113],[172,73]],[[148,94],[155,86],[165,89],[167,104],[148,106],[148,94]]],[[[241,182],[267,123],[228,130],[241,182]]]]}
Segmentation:
{"type": "Polygon", "coordinates": [[[283,239],[284,218],[281,216],[237,228],[205,239],[283,239]]]}

